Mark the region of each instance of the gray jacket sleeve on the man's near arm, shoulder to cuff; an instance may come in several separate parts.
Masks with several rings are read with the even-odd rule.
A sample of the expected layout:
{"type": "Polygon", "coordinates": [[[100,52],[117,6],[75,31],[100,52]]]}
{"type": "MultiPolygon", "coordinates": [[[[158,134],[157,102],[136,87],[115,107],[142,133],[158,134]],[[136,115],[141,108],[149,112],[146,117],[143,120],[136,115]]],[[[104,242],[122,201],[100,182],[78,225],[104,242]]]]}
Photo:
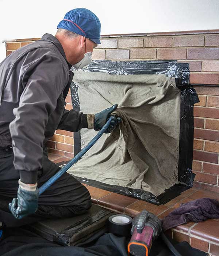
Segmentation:
{"type": "Polygon", "coordinates": [[[44,54],[29,65],[21,79],[24,90],[9,129],[15,169],[22,182],[32,184],[42,168],[45,127],[68,82],[68,68],[58,57],[44,54]]]}

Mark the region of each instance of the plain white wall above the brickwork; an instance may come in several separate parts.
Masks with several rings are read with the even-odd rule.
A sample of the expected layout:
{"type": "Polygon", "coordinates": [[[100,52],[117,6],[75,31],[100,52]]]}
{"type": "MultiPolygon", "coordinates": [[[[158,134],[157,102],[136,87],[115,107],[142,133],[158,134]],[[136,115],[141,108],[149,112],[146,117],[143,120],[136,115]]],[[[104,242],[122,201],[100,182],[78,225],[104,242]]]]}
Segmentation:
{"type": "Polygon", "coordinates": [[[102,35],[219,29],[219,0],[0,0],[0,42],[54,34],[78,7],[99,17],[102,35]]]}

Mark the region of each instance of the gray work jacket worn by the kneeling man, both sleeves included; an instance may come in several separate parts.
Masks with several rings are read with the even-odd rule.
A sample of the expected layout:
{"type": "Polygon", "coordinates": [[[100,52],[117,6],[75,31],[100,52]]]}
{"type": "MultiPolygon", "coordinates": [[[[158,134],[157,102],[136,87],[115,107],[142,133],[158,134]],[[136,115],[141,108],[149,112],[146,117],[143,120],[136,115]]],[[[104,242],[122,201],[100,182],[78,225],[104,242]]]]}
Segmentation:
{"type": "Polygon", "coordinates": [[[43,146],[56,129],[87,128],[87,115],[65,109],[70,68],[62,45],[50,34],[0,63],[0,151],[12,147],[25,183],[37,181],[43,146]]]}

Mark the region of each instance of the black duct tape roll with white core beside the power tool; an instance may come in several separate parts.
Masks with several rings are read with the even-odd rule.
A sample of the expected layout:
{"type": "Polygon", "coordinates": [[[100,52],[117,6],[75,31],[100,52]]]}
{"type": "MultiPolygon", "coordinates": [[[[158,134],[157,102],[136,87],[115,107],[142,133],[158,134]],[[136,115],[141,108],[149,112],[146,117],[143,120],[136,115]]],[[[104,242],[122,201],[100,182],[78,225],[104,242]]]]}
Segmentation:
{"type": "Polygon", "coordinates": [[[108,219],[109,233],[113,233],[116,236],[131,236],[132,218],[124,214],[112,215],[108,219]]]}

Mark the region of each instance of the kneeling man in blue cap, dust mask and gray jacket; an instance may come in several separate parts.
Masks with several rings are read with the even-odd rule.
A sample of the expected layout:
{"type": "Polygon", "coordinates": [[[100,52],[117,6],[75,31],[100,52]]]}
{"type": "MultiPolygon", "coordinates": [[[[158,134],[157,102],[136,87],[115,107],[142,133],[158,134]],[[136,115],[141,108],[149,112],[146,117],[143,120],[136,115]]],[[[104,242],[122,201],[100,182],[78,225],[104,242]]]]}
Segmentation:
{"type": "MultiPolygon", "coordinates": [[[[55,130],[99,131],[117,108],[95,115],[65,109],[73,78],[69,69],[91,63],[93,48],[100,44],[100,21],[91,11],[77,8],[57,28],[55,37],[45,34],[0,63],[1,226],[71,217],[91,207],[88,190],[68,173],[38,196],[37,187],[60,169],[47,158],[45,147],[55,130]]],[[[107,132],[118,122],[114,116],[107,132]]]]}

